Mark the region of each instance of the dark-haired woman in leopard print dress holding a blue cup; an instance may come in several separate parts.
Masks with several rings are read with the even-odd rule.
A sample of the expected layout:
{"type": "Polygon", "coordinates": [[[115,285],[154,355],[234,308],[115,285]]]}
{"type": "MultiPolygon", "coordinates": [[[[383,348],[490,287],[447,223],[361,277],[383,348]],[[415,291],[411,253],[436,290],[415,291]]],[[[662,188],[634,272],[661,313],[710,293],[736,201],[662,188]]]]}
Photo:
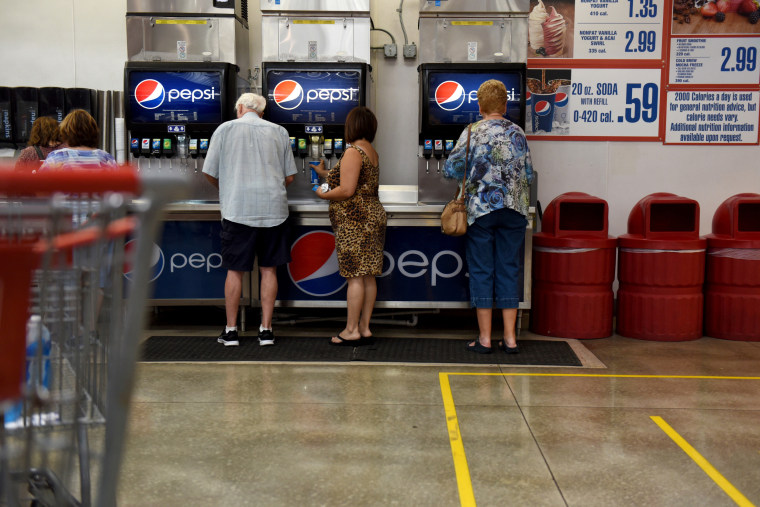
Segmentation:
{"type": "Polygon", "coordinates": [[[346,327],[330,338],[332,345],[367,345],[377,297],[375,277],[382,273],[386,214],[378,198],[378,154],[372,146],[377,118],[359,106],[346,116],[346,151],[329,171],[320,162],[317,172],[327,176],[329,190],[317,195],[330,201],[330,223],[335,232],[340,274],[348,279],[346,327]]]}

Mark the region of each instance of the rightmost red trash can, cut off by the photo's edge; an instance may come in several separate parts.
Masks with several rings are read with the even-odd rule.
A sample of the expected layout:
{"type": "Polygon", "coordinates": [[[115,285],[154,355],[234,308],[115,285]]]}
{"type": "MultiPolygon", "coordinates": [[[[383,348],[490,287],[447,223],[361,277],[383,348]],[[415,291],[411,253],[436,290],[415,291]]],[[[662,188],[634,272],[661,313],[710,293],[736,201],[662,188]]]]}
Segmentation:
{"type": "Polygon", "coordinates": [[[760,341],[760,194],[726,199],[706,238],[705,334],[760,341]]]}

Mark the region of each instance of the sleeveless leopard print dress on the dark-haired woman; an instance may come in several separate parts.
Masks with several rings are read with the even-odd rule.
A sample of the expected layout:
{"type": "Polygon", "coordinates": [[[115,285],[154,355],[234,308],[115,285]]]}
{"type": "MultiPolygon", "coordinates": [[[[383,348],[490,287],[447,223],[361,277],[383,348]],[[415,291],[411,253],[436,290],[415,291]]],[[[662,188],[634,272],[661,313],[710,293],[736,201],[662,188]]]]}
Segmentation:
{"type": "MultiPolygon", "coordinates": [[[[338,267],[344,278],[375,275],[383,271],[385,245],[385,208],[380,204],[377,188],[380,181],[379,166],[372,165],[367,154],[358,146],[362,156],[356,192],[345,201],[330,201],[330,223],[335,232],[335,249],[338,267]]],[[[340,162],[327,175],[330,188],[340,185],[340,162]]]]}

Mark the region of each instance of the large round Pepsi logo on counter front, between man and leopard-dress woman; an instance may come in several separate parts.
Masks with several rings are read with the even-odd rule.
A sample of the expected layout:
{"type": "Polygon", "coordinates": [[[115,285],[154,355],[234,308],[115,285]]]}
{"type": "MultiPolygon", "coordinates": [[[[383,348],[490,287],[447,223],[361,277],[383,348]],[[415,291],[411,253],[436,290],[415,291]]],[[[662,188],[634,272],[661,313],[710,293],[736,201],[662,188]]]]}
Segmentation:
{"type": "Polygon", "coordinates": [[[293,243],[290,256],[290,280],[306,294],[329,296],[346,285],[346,279],[338,270],[335,236],[331,232],[307,232],[293,243]]]}

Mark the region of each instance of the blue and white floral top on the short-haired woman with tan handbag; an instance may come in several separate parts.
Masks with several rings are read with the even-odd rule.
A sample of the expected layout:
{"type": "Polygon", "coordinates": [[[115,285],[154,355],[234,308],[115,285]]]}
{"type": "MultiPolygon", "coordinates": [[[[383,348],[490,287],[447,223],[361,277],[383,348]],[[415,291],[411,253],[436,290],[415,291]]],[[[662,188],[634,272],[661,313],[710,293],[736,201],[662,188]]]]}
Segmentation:
{"type": "MultiPolygon", "coordinates": [[[[491,211],[510,208],[528,216],[533,163],[525,133],[509,120],[473,123],[465,204],[467,223],[491,211]]],[[[467,129],[443,166],[443,176],[462,179],[467,129]]]]}

